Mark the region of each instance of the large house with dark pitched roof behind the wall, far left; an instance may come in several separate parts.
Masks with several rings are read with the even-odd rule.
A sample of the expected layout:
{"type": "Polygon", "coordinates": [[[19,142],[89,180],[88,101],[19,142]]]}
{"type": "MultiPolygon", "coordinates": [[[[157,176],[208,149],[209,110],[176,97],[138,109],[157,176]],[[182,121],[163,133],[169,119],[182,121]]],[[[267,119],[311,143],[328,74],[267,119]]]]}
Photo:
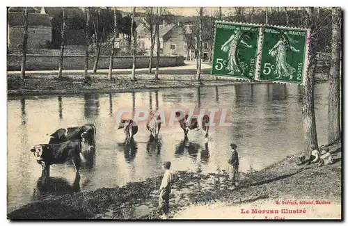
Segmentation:
{"type": "MultiPolygon", "coordinates": [[[[8,12],[8,48],[21,48],[24,35],[24,13],[8,12]]],[[[28,49],[41,49],[52,41],[52,25],[49,15],[29,13],[28,49]]]]}

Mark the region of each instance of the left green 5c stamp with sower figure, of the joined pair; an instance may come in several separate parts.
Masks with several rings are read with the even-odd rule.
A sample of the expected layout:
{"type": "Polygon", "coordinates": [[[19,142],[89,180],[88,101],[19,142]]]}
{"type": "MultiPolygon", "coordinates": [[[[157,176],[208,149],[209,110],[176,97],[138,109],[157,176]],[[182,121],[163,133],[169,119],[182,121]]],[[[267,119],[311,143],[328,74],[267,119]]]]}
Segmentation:
{"type": "Polygon", "coordinates": [[[255,79],[258,43],[258,26],[216,22],[212,74],[255,79]]]}

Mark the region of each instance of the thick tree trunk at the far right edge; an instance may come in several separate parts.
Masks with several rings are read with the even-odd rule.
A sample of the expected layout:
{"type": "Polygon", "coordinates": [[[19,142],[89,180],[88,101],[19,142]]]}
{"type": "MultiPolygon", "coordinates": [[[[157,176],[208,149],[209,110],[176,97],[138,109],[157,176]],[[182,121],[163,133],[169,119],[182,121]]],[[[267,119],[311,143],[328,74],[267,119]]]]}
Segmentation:
{"type": "Polygon", "coordinates": [[[340,55],[341,9],[332,9],[331,68],[329,75],[328,143],[341,138],[340,129],[340,55]]]}

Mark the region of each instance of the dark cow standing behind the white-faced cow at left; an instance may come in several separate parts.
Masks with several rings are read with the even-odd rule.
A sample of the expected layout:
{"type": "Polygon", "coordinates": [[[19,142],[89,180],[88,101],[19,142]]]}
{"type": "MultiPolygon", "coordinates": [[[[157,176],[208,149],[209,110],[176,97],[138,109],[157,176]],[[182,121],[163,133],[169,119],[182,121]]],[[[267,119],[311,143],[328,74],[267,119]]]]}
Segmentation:
{"type": "Polygon", "coordinates": [[[68,129],[61,128],[50,135],[49,144],[63,143],[68,140],[80,140],[95,148],[95,134],[94,124],[84,124],[81,127],[69,127],[68,129]]]}

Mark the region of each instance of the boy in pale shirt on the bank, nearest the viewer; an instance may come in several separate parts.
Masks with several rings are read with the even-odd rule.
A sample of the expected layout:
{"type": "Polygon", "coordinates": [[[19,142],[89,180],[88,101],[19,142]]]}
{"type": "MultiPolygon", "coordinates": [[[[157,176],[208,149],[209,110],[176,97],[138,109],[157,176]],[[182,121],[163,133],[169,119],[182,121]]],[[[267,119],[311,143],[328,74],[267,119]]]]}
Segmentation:
{"type": "Polygon", "coordinates": [[[162,178],[161,187],[159,188],[159,207],[163,210],[164,215],[160,216],[163,219],[166,219],[169,213],[169,194],[171,193],[171,162],[166,161],[164,164],[164,176],[162,178]]]}

